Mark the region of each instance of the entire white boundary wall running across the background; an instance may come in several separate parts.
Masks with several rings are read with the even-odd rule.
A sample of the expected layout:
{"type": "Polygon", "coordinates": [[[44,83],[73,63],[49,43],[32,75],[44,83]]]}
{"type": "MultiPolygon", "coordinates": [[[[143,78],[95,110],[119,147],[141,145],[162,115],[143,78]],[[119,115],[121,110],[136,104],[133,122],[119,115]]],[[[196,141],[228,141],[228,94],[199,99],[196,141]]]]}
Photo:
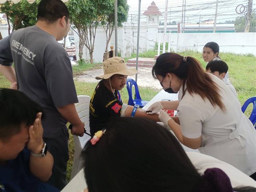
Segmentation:
{"type": "MultiPolygon", "coordinates": [[[[201,52],[207,42],[214,41],[220,46],[220,52],[233,52],[236,54],[254,54],[256,55],[256,33],[170,33],[167,34],[168,41],[171,35],[171,50],[183,51],[194,50],[201,52]]],[[[111,45],[115,45],[115,35],[112,34],[110,40],[111,45]]],[[[162,42],[163,33],[160,33],[162,42]]],[[[75,33],[76,54],[78,58],[78,35],[75,33]]],[[[140,42],[139,52],[154,49],[155,43],[158,42],[158,24],[157,23],[141,23],[140,25],[140,42]]],[[[102,27],[96,32],[94,61],[101,62],[106,46],[106,34],[102,27]]],[[[137,46],[137,24],[125,23],[123,28],[118,28],[118,52],[122,57],[129,57],[132,53],[136,53],[137,46]]],[[[167,50],[166,50],[167,51],[167,50]]],[[[160,52],[161,53],[161,52],[160,52]]],[[[84,47],[83,58],[90,60],[89,52],[84,47]]]]}

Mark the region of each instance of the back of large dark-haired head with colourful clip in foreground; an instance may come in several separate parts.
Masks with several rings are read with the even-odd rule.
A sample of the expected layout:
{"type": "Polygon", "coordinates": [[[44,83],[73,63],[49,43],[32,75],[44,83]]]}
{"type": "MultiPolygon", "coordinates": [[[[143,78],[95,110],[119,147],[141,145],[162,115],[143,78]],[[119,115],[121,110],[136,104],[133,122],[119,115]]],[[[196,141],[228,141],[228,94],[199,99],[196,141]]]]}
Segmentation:
{"type": "Polygon", "coordinates": [[[98,143],[83,151],[88,190],[93,192],[190,192],[202,178],[176,138],[140,118],[119,118],[98,143]]]}

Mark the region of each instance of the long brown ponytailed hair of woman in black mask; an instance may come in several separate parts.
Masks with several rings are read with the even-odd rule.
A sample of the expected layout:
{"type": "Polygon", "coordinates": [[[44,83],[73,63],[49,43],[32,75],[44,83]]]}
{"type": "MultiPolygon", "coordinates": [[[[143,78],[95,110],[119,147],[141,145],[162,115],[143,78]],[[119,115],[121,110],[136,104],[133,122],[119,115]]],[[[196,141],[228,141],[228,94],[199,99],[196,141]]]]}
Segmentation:
{"type": "Polygon", "coordinates": [[[218,105],[223,111],[225,110],[218,85],[195,58],[187,56],[185,59],[176,53],[161,54],[152,68],[152,76],[156,79],[157,75],[164,77],[167,73],[174,73],[184,80],[183,96],[186,91],[190,94],[198,94],[203,100],[207,98],[213,106],[218,105]],[[184,90],[185,84],[186,90],[184,90]]]}

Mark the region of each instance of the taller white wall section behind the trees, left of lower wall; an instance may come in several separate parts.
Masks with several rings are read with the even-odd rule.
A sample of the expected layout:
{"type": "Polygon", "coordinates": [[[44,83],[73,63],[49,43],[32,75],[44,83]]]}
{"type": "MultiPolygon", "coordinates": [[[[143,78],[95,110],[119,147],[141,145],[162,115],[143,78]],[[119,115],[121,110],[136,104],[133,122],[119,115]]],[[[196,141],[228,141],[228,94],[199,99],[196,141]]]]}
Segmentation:
{"type": "MultiPolygon", "coordinates": [[[[118,28],[118,52],[120,52],[122,57],[129,57],[132,53],[136,53],[137,48],[137,23],[125,23],[123,28],[118,28]]],[[[158,32],[158,23],[148,23],[140,24],[140,42],[139,51],[144,52],[154,48],[157,42],[156,34],[158,32]]],[[[79,38],[76,33],[74,33],[75,44],[76,44],[76,54],[78,58],[79,52],[79,38]]],[[[110,46],[115,46],[115,33],[113,32],[112,38],[110,40],[108,50],[110,46]]],[[[103,59],[103,53],[106,47],[106,33],[104,28],[98,27],[95,36],[94,44],[94,61],[101,62],[103,59]]],[[[84,46],[83,58],[90,60],[90,55],[88,49],[84,46]]],[[[79,59],[79,58],[78,58],[79,59]]]]}

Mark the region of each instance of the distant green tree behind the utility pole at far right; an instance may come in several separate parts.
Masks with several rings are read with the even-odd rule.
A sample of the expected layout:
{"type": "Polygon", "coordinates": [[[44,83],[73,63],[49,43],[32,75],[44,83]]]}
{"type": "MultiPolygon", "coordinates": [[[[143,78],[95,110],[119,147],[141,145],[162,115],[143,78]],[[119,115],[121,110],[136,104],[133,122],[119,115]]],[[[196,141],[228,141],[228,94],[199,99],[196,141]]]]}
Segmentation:
{"type": "MultiPolygon", "coordinates": [[[[236,32],[244,32],[244,26],[246,22],[246,16],[237,17],[235,20],[235,30],[236,32]]],[[[250,32],[256,32],[256,10],[252,11],[250,32]]]]}

